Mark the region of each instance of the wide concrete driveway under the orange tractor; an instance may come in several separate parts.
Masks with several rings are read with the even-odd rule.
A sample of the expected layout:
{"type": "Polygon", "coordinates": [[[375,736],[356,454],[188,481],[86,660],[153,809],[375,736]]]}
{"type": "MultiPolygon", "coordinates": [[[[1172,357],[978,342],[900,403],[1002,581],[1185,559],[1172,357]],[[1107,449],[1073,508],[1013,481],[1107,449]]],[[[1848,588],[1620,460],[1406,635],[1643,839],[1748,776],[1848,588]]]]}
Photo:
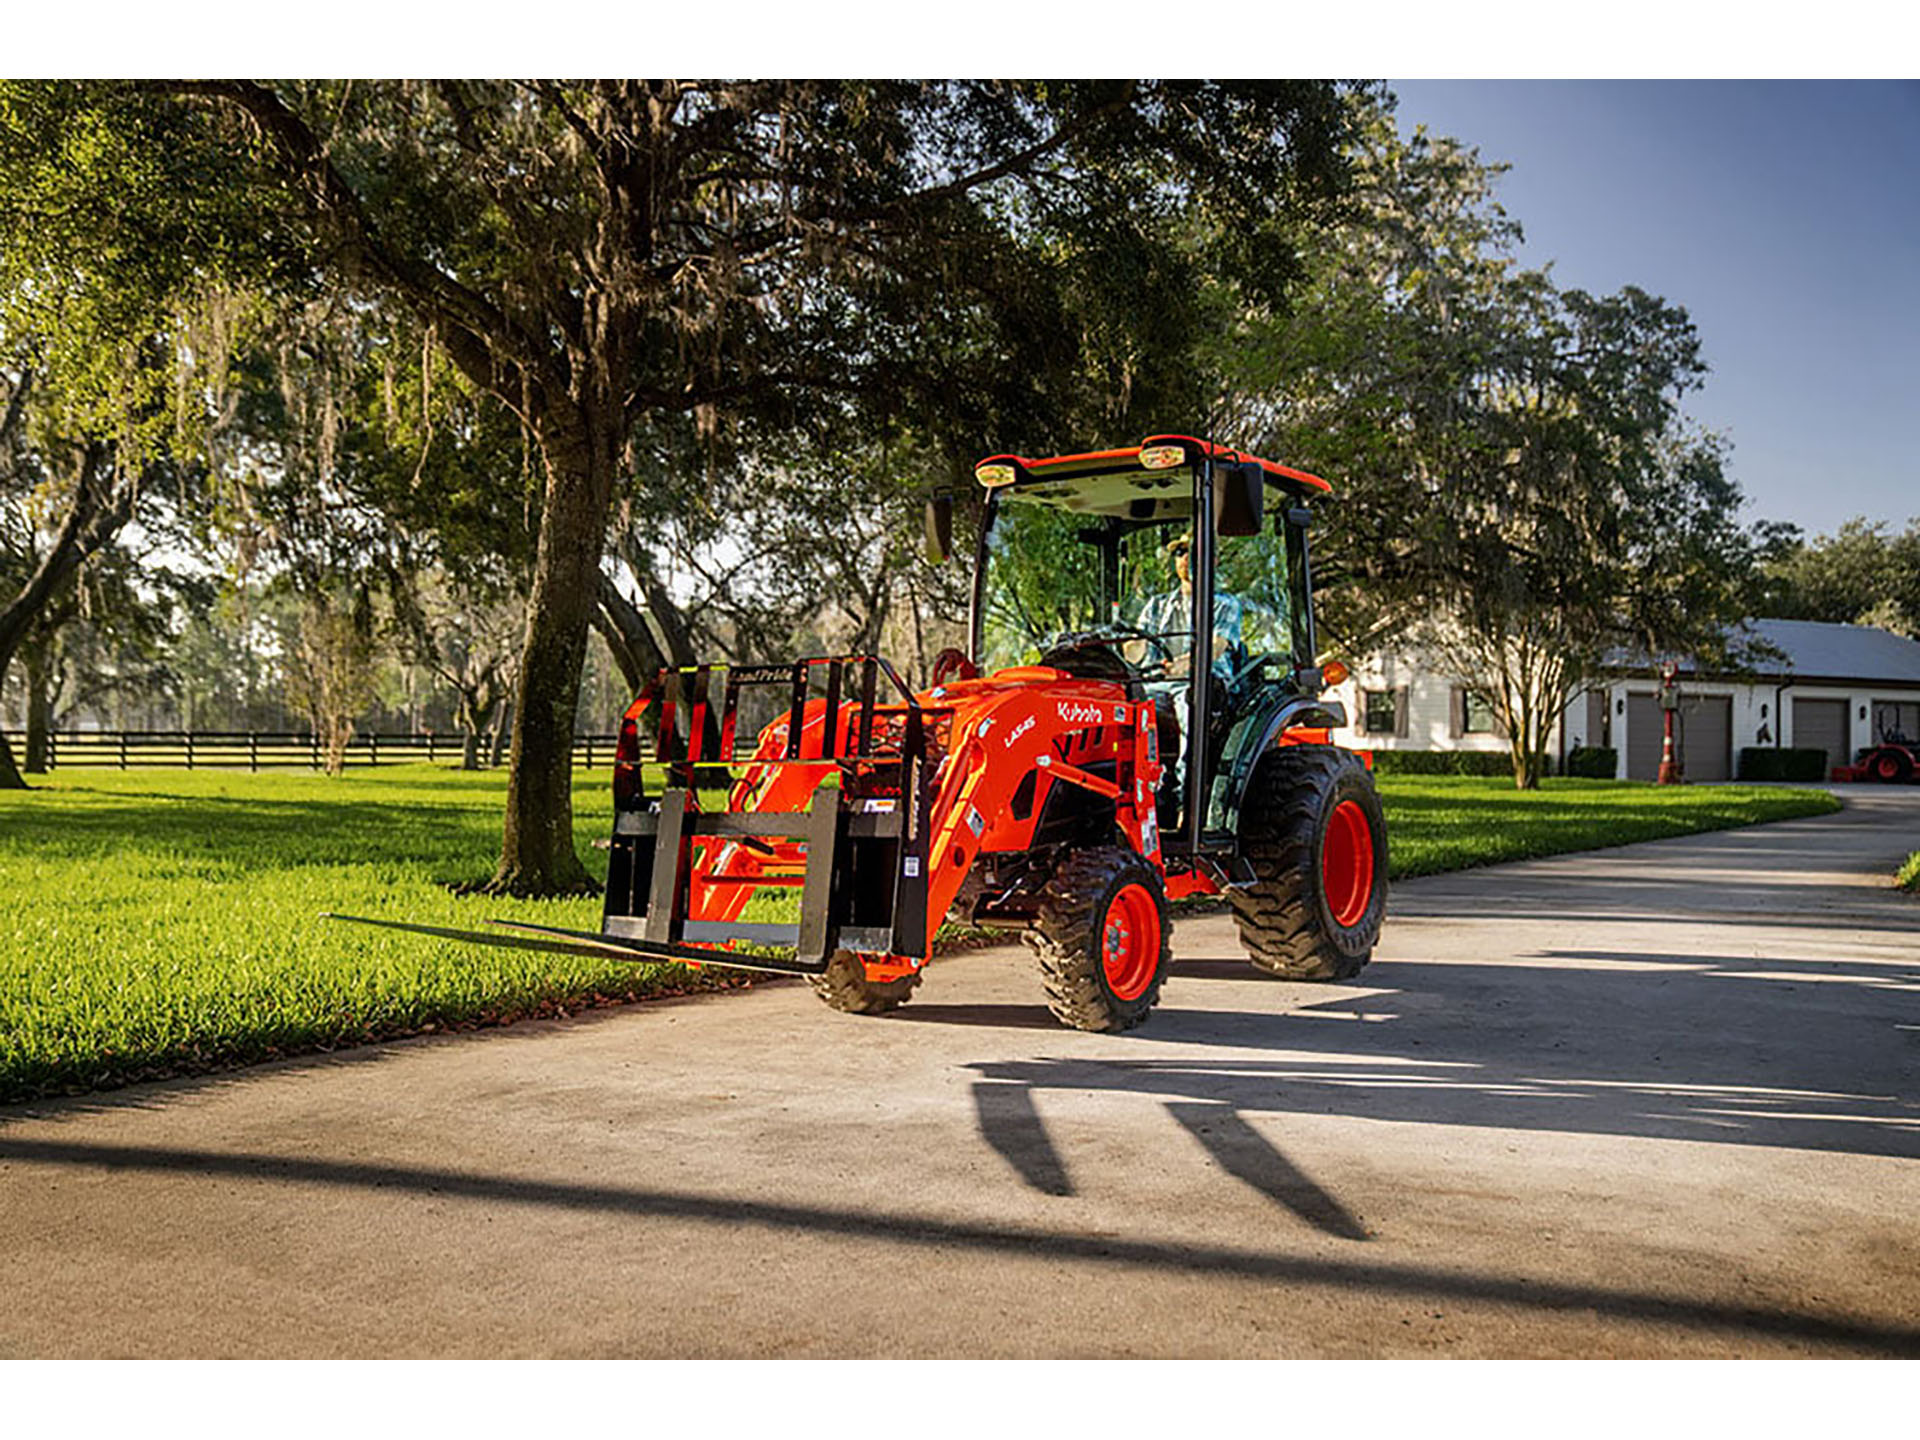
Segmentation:
{"type": "Polygon", "coordinates": [[[0,1110],[0,1356],[1920,1356],[1920,791],[1179,927],[0,1110]]]}

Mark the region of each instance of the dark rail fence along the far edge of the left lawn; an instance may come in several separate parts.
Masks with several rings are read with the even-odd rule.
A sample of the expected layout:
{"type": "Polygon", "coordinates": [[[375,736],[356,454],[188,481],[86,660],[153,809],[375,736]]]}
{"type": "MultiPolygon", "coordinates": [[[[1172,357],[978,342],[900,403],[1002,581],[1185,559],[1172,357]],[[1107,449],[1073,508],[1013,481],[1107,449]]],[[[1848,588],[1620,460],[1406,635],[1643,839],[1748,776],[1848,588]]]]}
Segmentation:
{"type": "MultiPolygon", "coordinates": [[[[13,760],[27,760],[27,732],[6,730],[13,760]]],[[[326,743],[292,730],[69,730],[46,737],[48,768],[79,766],[106,770],[319,770],[326,762],[326,743]]],[[[586,770],[612,764],[616,735],[574,735],[574,764],[586,770]]],[[[459,764],[463,735],[355,735],[348,741],[348,766],[376,764],[459,764]]],[[[492,745],[482,741],[480,762],[488,764],[492,745]]]]}

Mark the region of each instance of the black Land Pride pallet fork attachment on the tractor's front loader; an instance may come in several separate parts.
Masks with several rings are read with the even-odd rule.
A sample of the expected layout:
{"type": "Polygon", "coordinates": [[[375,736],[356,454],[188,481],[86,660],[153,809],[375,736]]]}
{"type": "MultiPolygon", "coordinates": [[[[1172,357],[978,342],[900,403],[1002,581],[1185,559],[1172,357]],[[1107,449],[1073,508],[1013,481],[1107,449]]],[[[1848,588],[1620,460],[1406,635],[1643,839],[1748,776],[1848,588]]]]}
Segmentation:
{"type": "Polygon", "coordinates": [[[820,975],[837,950],[856,950],[918,968],[929,948],[931,801],[924,708],[879,657],[662,670],[622,726],[599,933],[515,920],[468,931],[330,912],[324,918],[603,960],[820,975]],[[808,695],[816,666],[826,668],[824,701],[808,695]],[[710,695],[722,668],[726,689],[714,716],[710,695]],[[899,705],[876,703],[881,674],[900,693],[899,705]],[[783,687],[787,724],[778,745],[762,743],[755,756],[737,760],[737,707],[751,685],[783,687]],[[645,795],[639,755],[639,718],[653,705],[659,737],[651,764],[666,774],[657,799],[645,795]],[[728,785],[728,808],[703,810],[701,795],[710,801],[716,781],[728,785]],[[747,900],[762,887],[797,887],[799,922],[745,920],[747,900]],[[728,948],[733,945],[753,948],[728,948]]]}

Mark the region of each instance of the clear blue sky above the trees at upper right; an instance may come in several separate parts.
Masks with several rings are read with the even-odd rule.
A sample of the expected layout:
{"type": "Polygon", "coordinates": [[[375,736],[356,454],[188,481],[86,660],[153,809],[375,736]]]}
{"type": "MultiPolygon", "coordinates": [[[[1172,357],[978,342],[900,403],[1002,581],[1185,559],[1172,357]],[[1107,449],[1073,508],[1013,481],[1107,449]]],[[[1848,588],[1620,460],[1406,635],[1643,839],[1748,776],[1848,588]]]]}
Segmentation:
{"type": "Polygon", "coordinates": [[[1745,518],[1920,516],[1920,83],[1390,81],[1513,169],[1521,257],[1686,305],[1745,518]]]}

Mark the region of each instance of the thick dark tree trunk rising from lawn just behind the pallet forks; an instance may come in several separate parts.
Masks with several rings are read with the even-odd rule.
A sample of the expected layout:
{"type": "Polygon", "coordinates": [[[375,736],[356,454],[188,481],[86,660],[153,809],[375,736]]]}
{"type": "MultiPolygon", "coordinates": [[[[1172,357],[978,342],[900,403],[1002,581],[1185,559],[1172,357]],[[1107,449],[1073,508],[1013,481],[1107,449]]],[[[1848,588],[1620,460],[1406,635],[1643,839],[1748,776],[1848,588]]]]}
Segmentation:
{"type": "Polygon", "coordinates": [[[513,707],[507,822],[486,885],[493,895],[597,891],[574,852],[574,712],[622,428],[611,405],[541,436],[547,488],[513,707]]]}

